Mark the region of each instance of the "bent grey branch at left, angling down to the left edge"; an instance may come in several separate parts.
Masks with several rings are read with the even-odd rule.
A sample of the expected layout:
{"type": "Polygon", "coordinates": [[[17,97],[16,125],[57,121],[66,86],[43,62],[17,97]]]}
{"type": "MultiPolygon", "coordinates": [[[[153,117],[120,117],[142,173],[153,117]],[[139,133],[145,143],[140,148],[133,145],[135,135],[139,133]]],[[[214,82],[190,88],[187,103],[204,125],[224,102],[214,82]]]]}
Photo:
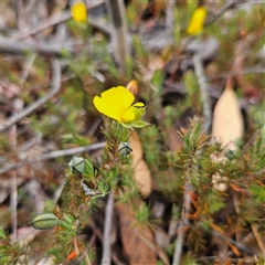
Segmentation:
{"type": "Polygon", "coordinates": [[[61,67],[56,59],[52,60],[52,72],[53,72],[53,78],[51,81],[50,92],[45,96],[39,98],[36,102],[25,107],[21,113],[14,114],[11,118],[9,118],[6,123],[3,123],[0,126],[0,132],[10,128],[12,125],[17,124],[19,120],[21,120],[22,118],[26,117],[28,115],[36,110],[40,106],[45,104],[51,97],[53,97],[60,91],[61,67]]]}

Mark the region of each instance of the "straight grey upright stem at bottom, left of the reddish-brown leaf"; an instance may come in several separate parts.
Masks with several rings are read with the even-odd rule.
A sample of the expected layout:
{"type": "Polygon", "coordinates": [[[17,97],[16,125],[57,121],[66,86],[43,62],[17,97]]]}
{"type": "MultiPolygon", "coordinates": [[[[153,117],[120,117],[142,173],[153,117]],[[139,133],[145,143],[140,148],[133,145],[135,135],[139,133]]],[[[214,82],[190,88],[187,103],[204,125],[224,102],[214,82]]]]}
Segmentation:
{"type": "Polygon", "coordinates": [[[114,212],[114,191],[110,191],[108,194],[108,201],[105,210],[102,265],[110,265],[112,263],[110,236],[112,236],[112,226],[113,226],[113,212],[114,212]]]}

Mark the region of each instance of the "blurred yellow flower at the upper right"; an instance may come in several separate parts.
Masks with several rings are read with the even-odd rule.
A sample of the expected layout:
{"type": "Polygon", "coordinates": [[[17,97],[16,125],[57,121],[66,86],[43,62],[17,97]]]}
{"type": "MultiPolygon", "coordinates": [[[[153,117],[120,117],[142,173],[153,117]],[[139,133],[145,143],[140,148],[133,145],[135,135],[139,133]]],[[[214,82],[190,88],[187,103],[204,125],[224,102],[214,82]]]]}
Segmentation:
{"type": "Polygon", "coordinates": [[[206,18],[206,9],[204,7],[197,8],[192,14],[187,32],[190,35],[200,34],[203,31],[203,24],[206,18]]]}

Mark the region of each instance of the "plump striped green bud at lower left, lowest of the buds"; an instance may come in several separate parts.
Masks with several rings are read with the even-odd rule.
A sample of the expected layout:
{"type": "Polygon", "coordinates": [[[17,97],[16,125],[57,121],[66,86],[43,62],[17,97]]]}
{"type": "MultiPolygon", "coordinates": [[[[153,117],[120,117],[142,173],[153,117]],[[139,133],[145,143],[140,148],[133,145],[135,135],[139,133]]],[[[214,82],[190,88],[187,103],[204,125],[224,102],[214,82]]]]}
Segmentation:
{"type": "Polygon", "coordinates": [[[60,220],[53,213],[42,213],[34,218],[28,225],[32,225],[36,230],[53,229],[60,220]]]}

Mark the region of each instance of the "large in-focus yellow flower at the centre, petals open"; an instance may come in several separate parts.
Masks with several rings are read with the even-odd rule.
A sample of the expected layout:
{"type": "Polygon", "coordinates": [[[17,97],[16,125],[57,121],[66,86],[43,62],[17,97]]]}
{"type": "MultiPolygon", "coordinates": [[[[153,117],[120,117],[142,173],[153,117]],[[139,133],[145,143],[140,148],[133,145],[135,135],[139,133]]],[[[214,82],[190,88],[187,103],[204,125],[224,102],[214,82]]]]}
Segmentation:
{"type": "Polygon", "coordinates": [[[135,96],[124,86],[113,87],[102,93],[102,97],[95,96],[93,103],[96,109],[118,120],[127,128],[140,128],[148,123],[141,120],[145,114],[144,103],[136,103],[135,96]]]}

